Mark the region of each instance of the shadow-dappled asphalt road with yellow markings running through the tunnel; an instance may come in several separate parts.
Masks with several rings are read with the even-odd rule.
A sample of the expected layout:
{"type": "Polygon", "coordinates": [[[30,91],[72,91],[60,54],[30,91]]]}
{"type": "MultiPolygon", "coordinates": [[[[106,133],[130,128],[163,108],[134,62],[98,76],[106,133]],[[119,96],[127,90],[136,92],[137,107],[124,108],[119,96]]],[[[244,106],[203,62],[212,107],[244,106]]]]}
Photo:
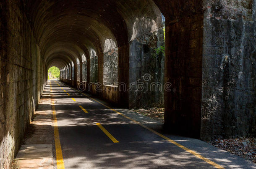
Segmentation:
{"type": "MultiPolygon", "coordinates": [[[[49,82],[57,116],[55,144],[59,139],[65,169],[256,168],[204,141],[161,134],[162,124],[146,116],[123,108],[111,110],[104,101],[60,81],[49,82]]],[[[58,169],[59,152],[54,149],[58,169]]]]}

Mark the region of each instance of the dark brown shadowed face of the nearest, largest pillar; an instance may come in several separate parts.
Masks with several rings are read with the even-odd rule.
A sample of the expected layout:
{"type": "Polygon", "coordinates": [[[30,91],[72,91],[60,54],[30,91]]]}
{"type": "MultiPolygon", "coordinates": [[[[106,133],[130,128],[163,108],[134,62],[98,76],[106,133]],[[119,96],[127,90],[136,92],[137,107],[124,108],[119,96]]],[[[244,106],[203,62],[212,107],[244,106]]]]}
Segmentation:
{"type": "Polygon", "coordinates": [[[203,17],[196,13],[165,27],[165,83],[171,84],[165,88],[165,128],[195,138],[201,128],[203,17]]]}

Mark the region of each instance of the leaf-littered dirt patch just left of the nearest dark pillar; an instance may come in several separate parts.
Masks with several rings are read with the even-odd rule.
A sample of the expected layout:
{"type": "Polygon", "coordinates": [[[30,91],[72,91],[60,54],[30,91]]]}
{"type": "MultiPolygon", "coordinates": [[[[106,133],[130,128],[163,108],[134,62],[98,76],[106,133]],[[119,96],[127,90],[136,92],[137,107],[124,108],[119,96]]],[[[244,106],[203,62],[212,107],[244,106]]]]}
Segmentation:
{"type": "Polygon", "coordinates": [[[144,116],[148,116],[151,119],[160,121],[162,123],[164,122],[165,108],[163,107],[132,109],[132,111],[143,114],[144,116]]]}

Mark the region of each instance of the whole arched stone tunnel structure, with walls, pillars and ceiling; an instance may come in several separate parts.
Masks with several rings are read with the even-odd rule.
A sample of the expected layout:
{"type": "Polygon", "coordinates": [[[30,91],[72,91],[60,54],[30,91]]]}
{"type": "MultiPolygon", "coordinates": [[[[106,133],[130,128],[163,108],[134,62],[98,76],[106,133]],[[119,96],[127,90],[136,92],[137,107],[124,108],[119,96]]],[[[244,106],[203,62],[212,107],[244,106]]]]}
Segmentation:
{"type": "Polygon", "coordinates": [[[255,134],[255,8],[254,0],[2,0],[0,169],[50,84],[123,109],[161,104],[165,133],[255,134]]]}

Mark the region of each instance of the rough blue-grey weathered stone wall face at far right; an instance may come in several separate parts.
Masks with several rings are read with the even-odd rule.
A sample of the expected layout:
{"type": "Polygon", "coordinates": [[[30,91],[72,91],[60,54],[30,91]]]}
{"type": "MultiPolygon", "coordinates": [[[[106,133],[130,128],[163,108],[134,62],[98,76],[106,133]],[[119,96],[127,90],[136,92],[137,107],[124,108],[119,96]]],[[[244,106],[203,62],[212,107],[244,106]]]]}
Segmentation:
{"type": "Polygon", "coordinates": [[[206,6],[203,139],[256,134],[255,8],[255,0],[219,0],[206,6]]]}

